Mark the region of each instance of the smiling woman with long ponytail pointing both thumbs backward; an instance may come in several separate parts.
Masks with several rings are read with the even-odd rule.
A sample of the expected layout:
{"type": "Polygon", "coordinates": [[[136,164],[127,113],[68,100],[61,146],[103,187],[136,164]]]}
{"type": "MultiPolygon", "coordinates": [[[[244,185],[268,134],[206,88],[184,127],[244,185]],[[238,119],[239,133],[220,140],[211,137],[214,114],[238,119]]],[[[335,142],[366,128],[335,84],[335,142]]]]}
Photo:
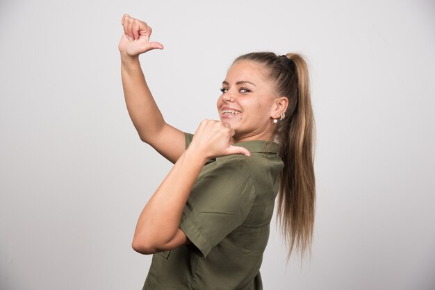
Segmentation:
{"type": "Polygon", "coordinates": [[[278,196],[289,255],[313,234],[313,112],[306,63],[295,53],[249,53],[229,69],[221,121],[195,135],[165,123],[138,56],[163,49],[151,28],[122,18],[122,84],[140,139],[174,163],[145,205],[133,238],[154,254],[143,289],[262,289],[259,268],[278,196]],[[276,143],[275,143],[276,142],[276,143]]]}

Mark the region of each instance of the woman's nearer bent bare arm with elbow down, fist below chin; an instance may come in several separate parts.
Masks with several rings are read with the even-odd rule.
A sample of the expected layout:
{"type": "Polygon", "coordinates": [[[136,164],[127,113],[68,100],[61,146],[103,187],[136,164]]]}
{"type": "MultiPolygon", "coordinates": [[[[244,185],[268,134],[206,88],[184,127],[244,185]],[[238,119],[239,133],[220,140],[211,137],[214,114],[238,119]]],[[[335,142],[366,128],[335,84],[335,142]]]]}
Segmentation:
{"type": "Polygon", "coordinates": [[[132,246],[136,251],[152,254],[188,243],[179,224],[183,208],[204,163],[222,155],[249,155],[246,148],[229,144],[233,135],[234,130],[228,123],[202,121],[189,148],[181,154],[142,210],[133,238],[132,246]]]}

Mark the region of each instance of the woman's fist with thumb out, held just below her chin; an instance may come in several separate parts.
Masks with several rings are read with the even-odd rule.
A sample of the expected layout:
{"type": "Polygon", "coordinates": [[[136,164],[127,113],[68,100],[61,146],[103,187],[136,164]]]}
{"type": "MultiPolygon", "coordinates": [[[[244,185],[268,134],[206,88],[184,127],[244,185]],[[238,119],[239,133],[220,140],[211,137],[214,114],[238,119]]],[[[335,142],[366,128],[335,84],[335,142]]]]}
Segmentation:
{"type": "Polygon", "coordinates": [[[188,149],[195,155],[205,157],[206,160],[231,154],[250,156],[247,148],[230,144],[233,135],[234,130],[229,123],[204,120],[199,124],[188,149]]]}

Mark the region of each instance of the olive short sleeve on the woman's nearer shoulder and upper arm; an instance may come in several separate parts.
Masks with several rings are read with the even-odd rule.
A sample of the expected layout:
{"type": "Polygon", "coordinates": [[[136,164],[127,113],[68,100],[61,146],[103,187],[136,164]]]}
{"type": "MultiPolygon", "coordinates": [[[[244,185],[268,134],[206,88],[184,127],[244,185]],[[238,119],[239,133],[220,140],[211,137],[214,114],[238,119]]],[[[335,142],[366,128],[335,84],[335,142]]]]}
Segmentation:
{"type": "Polygon", "coordinates": [[[206,257],[245,221],[254,199],[254,182],[243,163],[222,164],[192,188],[180,228],[206,257]]]}

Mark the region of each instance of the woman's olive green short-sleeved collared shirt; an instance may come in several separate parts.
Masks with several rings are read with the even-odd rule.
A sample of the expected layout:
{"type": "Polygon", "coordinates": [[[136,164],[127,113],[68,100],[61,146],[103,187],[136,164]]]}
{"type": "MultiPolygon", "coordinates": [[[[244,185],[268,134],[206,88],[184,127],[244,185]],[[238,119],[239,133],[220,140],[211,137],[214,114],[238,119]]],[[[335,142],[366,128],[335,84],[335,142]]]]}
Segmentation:
{"type": "MultiPolygon", "coordinates": [[[[192,137],[186,134],[186,148],[192,137]]],[[[234,146],[251,156],[204,165],[179,226],[192,244],[154,254],[142,290],[263,289],[259,270],[284,163],[275,143],[234,146]]]]}

